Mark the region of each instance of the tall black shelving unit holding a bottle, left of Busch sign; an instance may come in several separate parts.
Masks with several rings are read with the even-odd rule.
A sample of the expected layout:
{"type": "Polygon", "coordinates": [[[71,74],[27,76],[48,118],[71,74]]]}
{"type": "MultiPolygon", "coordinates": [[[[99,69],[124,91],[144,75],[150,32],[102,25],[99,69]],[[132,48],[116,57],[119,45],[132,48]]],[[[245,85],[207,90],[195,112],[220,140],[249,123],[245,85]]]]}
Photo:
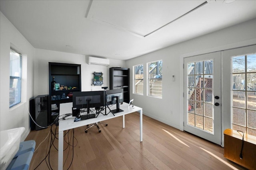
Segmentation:
{"type": "Polygon", "coordinates": [[[67,98],[70,92],[81,92],[81,65],[49,62],[49,124],[59,115],[61,103],[72,102],[72,97],[67,98]],[[67,86],[68,90],[52,90],[53,77],[57,84],[67,86]]]}

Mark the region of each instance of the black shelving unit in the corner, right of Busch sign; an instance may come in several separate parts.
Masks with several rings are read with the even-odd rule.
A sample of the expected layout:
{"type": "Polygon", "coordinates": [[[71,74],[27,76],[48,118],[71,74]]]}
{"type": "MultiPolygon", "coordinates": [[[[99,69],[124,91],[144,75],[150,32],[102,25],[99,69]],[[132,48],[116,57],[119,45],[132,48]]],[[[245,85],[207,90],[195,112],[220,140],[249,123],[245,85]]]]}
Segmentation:
{"type": "Polygon", "coordinates": [[[112,67],[110,73],[110,90],[124,89],[124,102],[130,102],[130,68],[112,67]]]}

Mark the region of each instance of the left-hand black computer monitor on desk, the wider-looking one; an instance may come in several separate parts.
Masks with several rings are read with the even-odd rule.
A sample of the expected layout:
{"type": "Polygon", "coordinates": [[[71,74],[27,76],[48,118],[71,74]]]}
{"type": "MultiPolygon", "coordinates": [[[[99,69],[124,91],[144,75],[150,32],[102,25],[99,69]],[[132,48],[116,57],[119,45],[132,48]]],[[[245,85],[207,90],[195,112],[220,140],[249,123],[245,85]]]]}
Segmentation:
{"type": "Polygon", "coordinates": [[[87,114],[91,107],[105,106],[105,91],[73,92],[73,111],[87,108],[87,114]]]}

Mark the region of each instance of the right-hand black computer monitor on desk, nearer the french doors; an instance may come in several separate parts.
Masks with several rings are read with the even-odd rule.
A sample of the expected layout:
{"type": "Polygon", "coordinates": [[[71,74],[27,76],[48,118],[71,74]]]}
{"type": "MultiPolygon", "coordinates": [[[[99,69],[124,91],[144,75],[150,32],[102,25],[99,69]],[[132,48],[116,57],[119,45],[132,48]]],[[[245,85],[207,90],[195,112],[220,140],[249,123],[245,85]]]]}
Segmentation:
{"type": "Polygon", "coordinates": [[[106,90],[106,105],[116,104],[116,109],[111,110],[112,113],[118,113],[123,111],[119,109],[119,103],[122,102],[124,102],[123,89],[106,90]]]}

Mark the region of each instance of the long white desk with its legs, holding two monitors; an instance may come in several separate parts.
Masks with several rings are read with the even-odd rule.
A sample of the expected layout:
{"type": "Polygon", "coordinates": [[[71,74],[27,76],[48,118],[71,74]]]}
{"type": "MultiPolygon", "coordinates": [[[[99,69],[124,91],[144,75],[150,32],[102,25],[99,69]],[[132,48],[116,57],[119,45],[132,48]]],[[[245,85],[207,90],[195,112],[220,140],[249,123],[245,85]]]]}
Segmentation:
{"type": "MultiPolygon", "coordinates": [[[[138,111],[140,113],[140,142],[142,142],[142,108],[136,107],[136,106],[132,108],[128,106],[129,104],[127,103],[123,103],[122,105],[120,105],[120,109],[122,109],[123,111],[119,113],[115,113],[115,116],[112,113],[109,113],[108,115],[99,114],[98,117],[96,118],[77,121],[77,122],[74,122],[74,119],[68,119],[70,117],[66,117],[66,120],[61,120],[59,123],[58,170],[62,170],[63,168],[62,167],[63,166],[63,135],[64,135],[64,131],[66,130],[89,125],[99,121],[105,121],[118,116],[123,116],[123,128],[124,128],[124,115],[138,111]]],[[[108,108],[106,109],[108,113],[109,109],[108,108]]],[[[116,109],[116,105],[110,107],[110,109],[116,109]]],[[[72,102],[60,104],[60,118],[62,117],[61,115],[64,115],[66,113],[72,113],[72,102]]],[[[105,113],[105,111],[102,111],[102,113],[105,113]]]]}

